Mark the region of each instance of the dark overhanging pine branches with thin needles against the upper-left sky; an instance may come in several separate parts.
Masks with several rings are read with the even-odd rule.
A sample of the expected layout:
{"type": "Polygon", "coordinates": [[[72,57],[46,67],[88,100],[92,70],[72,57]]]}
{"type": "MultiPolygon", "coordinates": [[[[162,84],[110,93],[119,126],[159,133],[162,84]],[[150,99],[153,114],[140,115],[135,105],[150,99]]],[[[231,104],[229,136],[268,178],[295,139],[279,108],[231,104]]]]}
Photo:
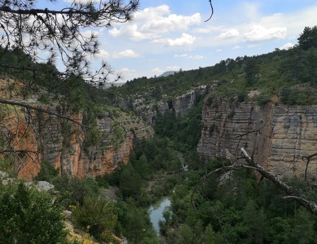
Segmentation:
{"type": "MultiPolygon", "coordinates": [[[[25,66],[24,59],[17,55],[18,66],[14,69],[23,73],[50,73],[59,80],[76,76],[95,84],[107,82],[109,74],[113,74],[111,67],[103,62],[100,69],[93,71],[88,60],[90,55],[99,51],[98,37],[94,33],[84,35],[83,30],[92,27],[110,28],[113,22],[129,21],[138,8],[138,1],[70,3],[56,11],[37,9],[34,0],[2,1],[0,21],[4,23],[2,29],[6,34],[2,38],[1,56],[10,50],[19,50],[34,62],[46,63],[42,69],[25,66]],[[63,21],[57,18],[57,13],[63,21]],[[39,55],[39,51],[46,55],[39,55]],[[65,68],[64,72],[58,72],[54,67],[58,55],[65,68]]],[[[0,66],[10,69],[8,63],[0,63],[0,66]]]]}

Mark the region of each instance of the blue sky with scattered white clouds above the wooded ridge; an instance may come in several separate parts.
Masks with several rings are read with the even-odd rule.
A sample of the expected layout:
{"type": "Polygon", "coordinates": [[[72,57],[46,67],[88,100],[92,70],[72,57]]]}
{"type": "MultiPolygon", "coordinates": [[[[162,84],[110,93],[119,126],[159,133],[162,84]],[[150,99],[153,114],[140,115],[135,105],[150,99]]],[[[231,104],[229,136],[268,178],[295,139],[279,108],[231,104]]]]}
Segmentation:
{"type": "MultiPolygon", "coordinates": [[[[85,0],[81,0],[85,1],[85,0]]],[[[37,8],[54,6],[38,1],[37,8]]],[[[97,31],[101,41],[93,66],[106,60],[123,81],[165,71],[208,67],[221,59],[289,48],[305,26],[317,25],[317,0],[140,0],[130,23],[97,31]]],[[[89,29],[85,31],[91,31],[89,29]]]]}

